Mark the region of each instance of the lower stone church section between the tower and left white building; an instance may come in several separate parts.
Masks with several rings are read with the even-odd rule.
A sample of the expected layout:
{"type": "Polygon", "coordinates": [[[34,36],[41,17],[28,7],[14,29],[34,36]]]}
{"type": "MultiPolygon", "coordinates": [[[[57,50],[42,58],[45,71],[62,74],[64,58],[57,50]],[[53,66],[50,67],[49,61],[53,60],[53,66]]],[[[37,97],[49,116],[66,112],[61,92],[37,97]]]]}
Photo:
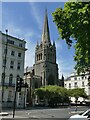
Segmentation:
{"type": "Polygon", "coordinates": [[[33,67],[26,67],[24,71],[24,83],[28,84],[26,88],[26,107],[34,105],[33,90],[41,87],[42,79],[40,76],[33,74],[33,67]]]}

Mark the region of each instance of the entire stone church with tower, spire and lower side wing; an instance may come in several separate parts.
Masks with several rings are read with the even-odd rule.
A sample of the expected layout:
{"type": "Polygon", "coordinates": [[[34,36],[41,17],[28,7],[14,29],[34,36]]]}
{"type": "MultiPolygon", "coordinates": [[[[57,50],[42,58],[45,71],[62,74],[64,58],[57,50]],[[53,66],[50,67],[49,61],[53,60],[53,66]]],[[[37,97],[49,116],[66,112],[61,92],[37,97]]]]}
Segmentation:
{"type": "Polygon", "coordinates": [[[24,81],[27,82],[29,89],[27,99],[30,102],[31,91],[46,85],[60,85],[58,78],[58,64],[56,63],[55,42],[51,43],[47,10],[44,16],[44,25],[41,42],[35,47],[35,64],[32,68],[26,68],[24,81]]]}

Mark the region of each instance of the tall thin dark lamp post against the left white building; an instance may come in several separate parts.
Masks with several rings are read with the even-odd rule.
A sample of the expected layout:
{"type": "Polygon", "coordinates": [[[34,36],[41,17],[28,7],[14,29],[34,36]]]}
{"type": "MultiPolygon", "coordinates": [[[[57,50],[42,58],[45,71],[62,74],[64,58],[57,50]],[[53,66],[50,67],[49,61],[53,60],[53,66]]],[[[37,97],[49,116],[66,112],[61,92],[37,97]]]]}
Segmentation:
{"type": "Polygon", "coordinates": [[[8,45],[8,30],[6,29],[6,47],[5,47],[5,57],[4,57],[4,65],[3,65],[3,73],[2,73],[2,102],[4,96],[5,70],[6,70],[6,62],[7,62],[7,45],[8,45]]]}

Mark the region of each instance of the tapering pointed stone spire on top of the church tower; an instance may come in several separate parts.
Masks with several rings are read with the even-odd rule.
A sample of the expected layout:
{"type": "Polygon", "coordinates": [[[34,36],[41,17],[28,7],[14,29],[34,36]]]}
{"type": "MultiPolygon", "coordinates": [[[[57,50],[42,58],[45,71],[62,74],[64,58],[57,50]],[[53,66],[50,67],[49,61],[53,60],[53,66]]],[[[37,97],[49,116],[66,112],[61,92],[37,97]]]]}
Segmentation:
{"type": "Polygon", "coordinates": [[[42,32],[42,43],[43,44],[50,43],[47,9],[45,10],[44,26],[43,26],[43,32],[42,32]]]}

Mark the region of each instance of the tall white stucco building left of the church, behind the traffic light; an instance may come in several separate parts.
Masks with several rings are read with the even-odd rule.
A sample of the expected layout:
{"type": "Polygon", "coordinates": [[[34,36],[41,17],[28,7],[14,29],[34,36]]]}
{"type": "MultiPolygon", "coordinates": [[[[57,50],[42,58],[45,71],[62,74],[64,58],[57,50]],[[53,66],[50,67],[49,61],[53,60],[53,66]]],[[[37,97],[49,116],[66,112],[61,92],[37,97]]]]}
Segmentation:
{"type": "MultiPolygon", "coordinates": [[[[25,44],[24,40],[0,32],[0,89],[2,90],[4,107],[12,107],[17,77],[24,76],[25,44]],[[1,52],[2,51],[2,52],[1,52]],[[6,65],[5,65],[6,61],[6,65]],[[6,67],[5,67],[6,66],[6,67]],[[5,79],[3,74],[5,73],[5,79]]],[[[17,93],[18,107],[23,107],[24,90],[17,93]]]]}

